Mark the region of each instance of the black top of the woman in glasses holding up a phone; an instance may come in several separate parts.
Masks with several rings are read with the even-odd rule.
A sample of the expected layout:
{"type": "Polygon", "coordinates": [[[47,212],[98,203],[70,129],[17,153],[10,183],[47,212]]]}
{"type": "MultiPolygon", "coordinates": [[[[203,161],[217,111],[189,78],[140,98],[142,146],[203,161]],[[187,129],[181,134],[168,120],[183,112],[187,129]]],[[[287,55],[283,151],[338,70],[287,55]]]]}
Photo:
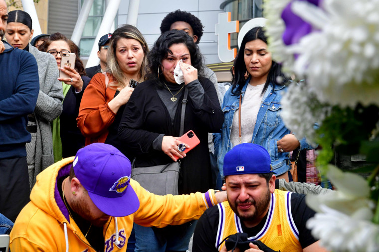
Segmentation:
{"type": "Polygon", "coordinates": [[[79,106],[84,89],[91,79],[86,76],[82,76],[81,78],[83,80],[82,90],[76,93],[75,88],[73,86],[70,87],[64,97],[63,110],[59,116],[63,158],[75,156],[76,152],[85,146],[85,138],[76,126],[76,117],[79,114],[79,106]]]}

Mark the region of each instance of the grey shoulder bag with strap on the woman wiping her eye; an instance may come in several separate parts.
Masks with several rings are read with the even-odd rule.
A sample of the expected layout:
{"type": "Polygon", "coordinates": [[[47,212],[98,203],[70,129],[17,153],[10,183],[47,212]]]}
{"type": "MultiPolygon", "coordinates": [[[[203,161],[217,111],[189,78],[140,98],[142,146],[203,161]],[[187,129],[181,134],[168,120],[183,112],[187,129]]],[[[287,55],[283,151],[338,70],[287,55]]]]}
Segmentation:
{"type": "MultiPolygon", "coordinates": [[[[181,136],[184,134],[184,117],[186,113],[187,97],[188,89],[185,88],[184,98],[182,100],[181,136]]],[[[132,164],[131,178],[138,181],[142,187],[149,192],[158,195],[178,195],[180,160],[167,165],[152,167],[134,167],[135,161],[136,160],[134,160],[132,164]]]]}

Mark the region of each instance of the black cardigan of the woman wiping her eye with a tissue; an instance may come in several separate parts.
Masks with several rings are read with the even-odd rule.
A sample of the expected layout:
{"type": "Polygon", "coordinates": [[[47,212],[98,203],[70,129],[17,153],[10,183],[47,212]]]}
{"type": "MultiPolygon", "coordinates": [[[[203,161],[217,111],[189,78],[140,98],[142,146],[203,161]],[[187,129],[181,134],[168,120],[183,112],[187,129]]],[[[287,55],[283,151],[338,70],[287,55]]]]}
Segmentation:
{"type": "MultiPolygon", "coordinates": [[[[208,79],[199,79],[204,89],[201,108],[196,108],[190,95],[186,106],[184,132],[192,130],[200,144],[182,159],[179,193],[205,192],[211,188],[211,171],[208,151],[208,132],[216,132],[223,123],[223,114],[214,85],[208,79]]],[[[139,84],[125,107],[119,127],[120,139],[136,155],[136,167],[150,167],[172,163],[169,156],[153,149],[153,141],[160,135],[180,136],[180,121],[184,92],[178,94],[174,124],[170,113],[157,93],[154,81],[139,84]]]]}

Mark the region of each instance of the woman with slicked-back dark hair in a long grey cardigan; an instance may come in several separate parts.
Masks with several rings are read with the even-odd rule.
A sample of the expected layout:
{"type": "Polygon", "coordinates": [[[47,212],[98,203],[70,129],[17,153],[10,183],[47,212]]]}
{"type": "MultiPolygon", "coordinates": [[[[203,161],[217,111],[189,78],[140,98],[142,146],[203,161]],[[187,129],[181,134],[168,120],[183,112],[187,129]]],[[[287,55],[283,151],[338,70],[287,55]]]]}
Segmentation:
{"type": "Polygon", "coordinates": [[[57,80],[59,71],[54,57],[40,52],[29,40],[33,36],[30,15],[23,10],[8,13],[5,37],[8,43],[22,50],[29,51],[37,61],[39,93],[34,113],[28,115],[27,130],[31,142],[26,143],[26,160],[29,171],[30,188],[36,176],[44,168],[54,163],[51,122],[62,112],[62,85],[57,80]]]}

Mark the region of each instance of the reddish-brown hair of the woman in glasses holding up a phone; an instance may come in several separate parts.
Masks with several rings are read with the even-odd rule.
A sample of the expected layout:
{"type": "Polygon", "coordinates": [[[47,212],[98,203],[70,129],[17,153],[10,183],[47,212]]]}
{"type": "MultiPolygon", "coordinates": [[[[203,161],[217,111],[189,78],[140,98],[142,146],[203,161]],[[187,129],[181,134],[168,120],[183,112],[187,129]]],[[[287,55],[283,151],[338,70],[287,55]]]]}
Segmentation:
{"type": "Polygon", "coordinates": [[[38,47],[38,50],[42,51],[42,52],[47,52],[47,48],[50,46],[51,42],[59,41],[59,40],[65,41],[68,44],[68,47],[70,48],[70,53],[75,54],[75,70],[76,70],[76,72],[78,72],[78,74],[80,76],[86,75],[86,71],[84,69],[83,62],[80,59],[79,47],[72,40],[68,39],[62,33],[56,32],[56,33],[51,34],[50,37],[45,42],[43,42],[43,44],[41,44],[38,47]]]}

